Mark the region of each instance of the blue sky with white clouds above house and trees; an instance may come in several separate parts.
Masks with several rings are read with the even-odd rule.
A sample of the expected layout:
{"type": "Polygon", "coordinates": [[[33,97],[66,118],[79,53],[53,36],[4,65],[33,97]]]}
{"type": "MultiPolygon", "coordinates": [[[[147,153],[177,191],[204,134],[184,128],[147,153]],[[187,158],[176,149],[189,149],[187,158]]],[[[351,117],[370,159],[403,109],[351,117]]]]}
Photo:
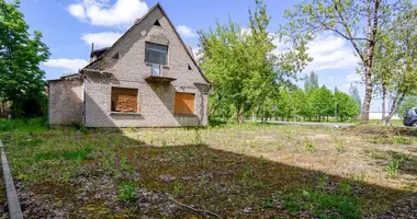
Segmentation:
{"type": "MultiPolygon", "coordinates": [[[[285,24],[282,18],[300,0],[264,0],[272,16],[269,32],[285,24]]],[[[216,20],[226,24],[229,18],[241,27],[248,25],[248,10],[255,0],[160,0],[162,8],[176,25],[185,44],[198,50],[196,31],[207,31],[216,20]]],[[[31,31],[41,31],[49,47],[50,58],[41,65],[46,79],[57,79],[77,72],[88,64],[91,43],[94,48],[112,45],[137,18],[157,3],[156,0],[21,0],[21,11],[31,31]]],[[[277,45],[280,46],[280,45],[277,45]]],[[[281,45],[282,46],[282,45],[281,45]]],[[[349,91],[350,83],[361,79],[357,74],[358,58],[350,44],[342,38],[322,34],[308,45],[313,62],[304,73],[315,71],[319,84],[349,91]]],[[[298,85],[302,85],[298,82],[298,85]]],[[[363,88],[357,83],[363,99],[363,88]]],[[[374,101],[371,111],[379,110],[374,101]]]]}

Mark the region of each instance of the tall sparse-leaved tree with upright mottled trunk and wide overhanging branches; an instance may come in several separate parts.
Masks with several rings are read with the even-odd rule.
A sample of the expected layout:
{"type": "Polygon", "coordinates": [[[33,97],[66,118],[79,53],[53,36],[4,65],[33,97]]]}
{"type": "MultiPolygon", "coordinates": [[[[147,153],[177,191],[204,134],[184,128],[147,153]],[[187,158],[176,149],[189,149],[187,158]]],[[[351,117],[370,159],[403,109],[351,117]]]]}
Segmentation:
{"type": "MultiPolygon", "coordinates": [[[[303,1],[286,10],[289,24],[283,27],[294,38],[305,39],[317,33],[330,32],[349,42],[363,67],[365,87],[361,119],[369,120],[373,94],[373,61],[381,25],[409,4],[403,0],[314,0],[303,1]]],[[[390,30],[386,30],[390,31],[390,30]]]]}

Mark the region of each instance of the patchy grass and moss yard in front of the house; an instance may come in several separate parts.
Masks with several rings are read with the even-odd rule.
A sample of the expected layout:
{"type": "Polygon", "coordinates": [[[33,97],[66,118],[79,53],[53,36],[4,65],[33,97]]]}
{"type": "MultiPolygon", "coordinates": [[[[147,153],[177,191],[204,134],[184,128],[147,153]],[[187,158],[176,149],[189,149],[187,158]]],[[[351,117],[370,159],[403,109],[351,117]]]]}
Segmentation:
{"type": "Polygon", "coordinates": [[[417,217],[412,128],[21,125],[0,138],[27,218],[417,217]]]}

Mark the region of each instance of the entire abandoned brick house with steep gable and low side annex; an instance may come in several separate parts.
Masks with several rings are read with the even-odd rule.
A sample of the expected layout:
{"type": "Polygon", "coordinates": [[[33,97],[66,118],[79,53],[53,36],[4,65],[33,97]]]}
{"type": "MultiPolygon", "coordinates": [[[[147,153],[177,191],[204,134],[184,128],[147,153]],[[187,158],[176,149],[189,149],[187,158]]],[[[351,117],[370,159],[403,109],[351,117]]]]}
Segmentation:
{"type": "Polygon", "coordinates": [[[206,126],[211,84],[158,3],[78,73],[48,81],[50,126],[206,126]]]}

